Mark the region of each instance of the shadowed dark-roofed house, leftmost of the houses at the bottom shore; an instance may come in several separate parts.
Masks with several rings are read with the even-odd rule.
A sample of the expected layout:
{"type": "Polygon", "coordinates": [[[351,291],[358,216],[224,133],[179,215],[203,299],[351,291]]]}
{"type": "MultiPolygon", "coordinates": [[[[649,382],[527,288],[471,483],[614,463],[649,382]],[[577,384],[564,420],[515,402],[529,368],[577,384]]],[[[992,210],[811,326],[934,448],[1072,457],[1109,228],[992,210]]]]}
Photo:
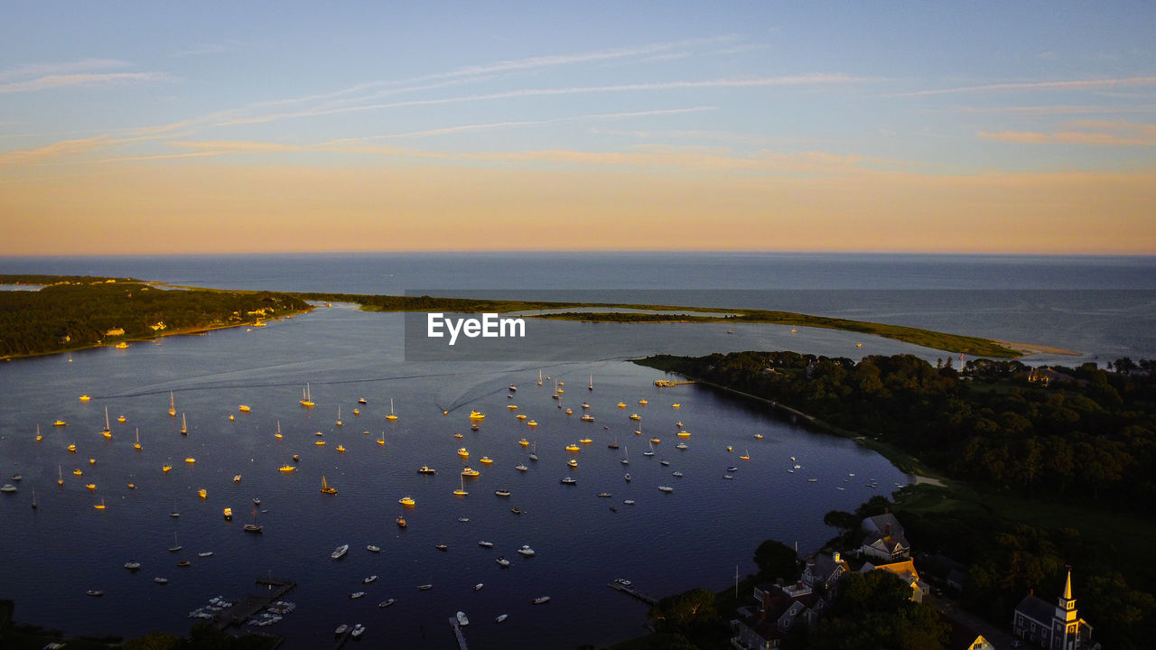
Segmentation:
{"type": "Polygon", "coordinates": [[[755,588],[758,612],[735,621],[731,647],[740,650],[772,650],[783,637],[799,626],[814,626],[830,607],[828,601],[802,583],[790,586],[759,585],[755,588]]]}

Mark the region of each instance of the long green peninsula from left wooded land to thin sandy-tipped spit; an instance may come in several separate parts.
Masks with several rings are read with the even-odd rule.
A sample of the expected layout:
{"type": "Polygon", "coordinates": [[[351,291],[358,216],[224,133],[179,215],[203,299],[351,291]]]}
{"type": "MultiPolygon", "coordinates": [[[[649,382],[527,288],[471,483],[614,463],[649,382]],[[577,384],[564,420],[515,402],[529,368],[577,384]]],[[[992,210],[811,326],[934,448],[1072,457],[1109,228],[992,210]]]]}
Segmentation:
{"type": "Polygon", "coordinates": [[[259,325],[309,311],[313,308],[309,301],[356,303],[365,311],[518,312],[526,318],[593,323],[765,323],[823,327],[955,354],[1001,359],[1023,356],[1035,349],[1055,349],[903,325],[763,309],[222,290],[132,278],[72,275],[0,275],[0,285],[43,287],[35,291],[0,291],[0,359],[259,325]]]}

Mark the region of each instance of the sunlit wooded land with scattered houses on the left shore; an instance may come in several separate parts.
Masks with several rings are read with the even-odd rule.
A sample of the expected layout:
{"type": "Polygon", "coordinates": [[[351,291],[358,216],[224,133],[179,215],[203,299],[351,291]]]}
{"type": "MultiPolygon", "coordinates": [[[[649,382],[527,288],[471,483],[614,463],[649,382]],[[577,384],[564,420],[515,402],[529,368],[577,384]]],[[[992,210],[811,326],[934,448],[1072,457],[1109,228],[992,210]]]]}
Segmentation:
{"type": "Polygon", "coordinates": [[[0,356],[240,325],[307,309],[307,303],[286,294],[162,290],[136,282],[58,283],[38,291],[0,291],[0,356]],[[164,328],[155,331],[158,323],[164,328]],[[124,334],[106,334],[116,328],[123,328],[124,334]]]}

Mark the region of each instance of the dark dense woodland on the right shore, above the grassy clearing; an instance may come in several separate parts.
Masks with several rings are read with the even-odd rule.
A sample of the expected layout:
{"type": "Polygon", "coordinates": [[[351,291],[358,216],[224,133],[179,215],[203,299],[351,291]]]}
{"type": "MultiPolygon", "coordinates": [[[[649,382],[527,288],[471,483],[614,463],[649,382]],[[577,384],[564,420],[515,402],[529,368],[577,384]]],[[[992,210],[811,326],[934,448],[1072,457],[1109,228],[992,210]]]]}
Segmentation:
{"type": "Polygon", "coordinates": [[[975,360],[961,374],[950,360],[855,363],[792,352],[645,363],[780,401],[955,478],[1156,510],[1156,377],[1148,372],[1088,363],[1057,368],[1045,384],[1030,382],[1031,369],[1017,361],[975,360]]]}

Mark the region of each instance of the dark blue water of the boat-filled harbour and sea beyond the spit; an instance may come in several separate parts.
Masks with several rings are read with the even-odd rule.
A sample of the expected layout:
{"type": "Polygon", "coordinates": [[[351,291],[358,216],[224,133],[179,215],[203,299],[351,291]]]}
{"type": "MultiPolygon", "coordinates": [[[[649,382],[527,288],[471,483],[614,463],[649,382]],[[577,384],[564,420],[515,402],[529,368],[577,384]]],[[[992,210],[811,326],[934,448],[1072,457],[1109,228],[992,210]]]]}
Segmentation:
{"type": "MultiPolygon", "coordinates": [[[[780,309],[1080,353],[1036,355],[1029,363],[1156,357],[1156,258],[1148,257],[5,258],[0,273],[780,309]]],[[[0,482],[18,488],[0,495],[0,598],[16,600],[17,621],[68,634],[184,634],[194,622],[188,614],[210,598],[259,593],[265,588],[255,579],[272,576],[297,583],[284,597],[296,610],[252,629],[283,635],[290,650],[323,648],[333,643],[338,625],[355,622],[366,626],[362,641],[372,647],[452,649],[449,619],[458,611],[469,616],[464,634],[475,649],[606,644],[644,633],[647,611],[609,589],[610,581],[628,578],[655,597],[725,589],[736,571],[754,571],[751,555],[764,539],[810,552],[833,533],[823,526],[824,512],[853,509],[909,480],[882,457],[810,433],[762,405],[694,385],[657,387],[664,375],[629,359],[741,349],[852,359],[911,353],[932,362],[947,356],[803,327],[792,333],[743,324],[727,333],[720,325],[529,320],[535,337],[511,341],[488,361],[407,361],[403,320],[335,303],[267,327],[0,363],[0,482]],[[313,408],[298,404],[306,383],[313,408]],[[170,392],[176,418],[168,414],[170,392]],[[77,399],[82,394],[91,400],[77,399]],[[385,418],[391,400],[393,421],[385,418]],[[573,414],[565,414],[568,407],[573,414]],[[99,433],[105,408],[111,440],[99,433]],[[470,429],[472,411],[486,414],[477,430],[470,429]],[[594,422],[578,419],[587,412],[594,422]],[[118,422],[119,415],[126,421],[118,422]],[[179,433],[181,415],[187,436],[179,433]],[[68,424],[53,427],[57,420],[68,424]],[[140,450],[133,448],[138,430],[140,450]],[[677,436],[680,430],[689,437],[677,436]],[[523,438],[529,448],[519,444],[523,438]],[[609,449],[612,442],[620,448],[609,449]],[[687,449],[676,449],[680,442],[687,449]],[[580,451],[566,451],[571,443],[580,451]],[[536,461],[528,459],[531,450],[536,461]],[[492,463],[482,463],[483,456],[492,463]],[[578,467],[566,465],[571,458],[578,467]],[[162,471],[166,464],[170,472],[162,471]],[[280,472],[287,464],[296,471],[280,472]],[[423,465],[437,474],[418,474],[423,465]],[[465,465],[481,475],[461,479],[465,465]],[[12,481],[15,474],[22,480],[12,481]],[[320,493],[323,477],[338,494],[320,493]],[[577,485],[561,485],[563,477],[577,485]],[[454,495],[462,486],[468,495],[454,495]],[[674,489],[662,493],[659,486],[674,489]],[[198,496],[201,488],[206,498],[198,496]],[[497,489],[511,495],[497,496],[497,489]],[[398,503],[406,495],[415,507],[398,503]],[[104,510],[94,508],[102,502],[104,510]],[[231,522],[222,516],[227,507],[231,522]],[[170,517],[175,510],[179,518],[170,517]],[[397,525],[399,515],[407,527],[397,525]],[[264,532],[243,532],[254,517],[264,532]],[[492,548],[480,546],[482,540],[492,548]],[[348,554],[332,560],[343,544],[348,554]],[[439,544],[449,549],[438,551],[439,544]],[[175,545],[181,549],[170,552],[175,545]],[[523,545],[533,547],[533,557],[517,554],[523,545]],[[200,555],[207,552],[212,556],[200,555]],[[511,566],[499,567],[499,556],[511,566]],[[180,560],[191,564],[178,567],[180,560]],[[141,570],[126,570],[128,561],[141,570]],[[378,578],[363,583],[372,575],[378,578]],[[169,582],[156,584],[155,577],[169,582]],[[417,589],[425,584],[432,586],[417,589]],[[86,594],[94,589],[104,596],[86,594]],[[360,591],[363,598],[350,598],[360,591]],[[549,604],[534,605],[540,596],[549,596],[549,604]],[[392,606],[378,606],[391,598],[392,606]],[[505,622],[495,622],[499,614],[509,615],[505,622]]]]}

